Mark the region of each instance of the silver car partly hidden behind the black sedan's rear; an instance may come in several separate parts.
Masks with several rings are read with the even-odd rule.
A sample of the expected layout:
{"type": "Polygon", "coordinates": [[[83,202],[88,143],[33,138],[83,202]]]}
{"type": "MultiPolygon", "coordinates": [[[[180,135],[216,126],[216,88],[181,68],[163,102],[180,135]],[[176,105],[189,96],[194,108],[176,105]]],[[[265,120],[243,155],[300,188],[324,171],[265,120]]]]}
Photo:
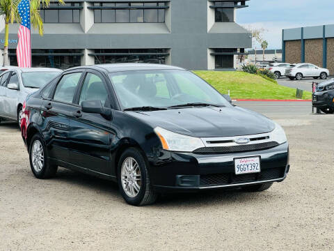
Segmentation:
{"type": "Polygon", "coordinates": [[[21,126],[22,105],[29,93],[37,91],[62,70],[55,68],[11,68],[0,75],[0,121],[9,119],[21,126]]]}

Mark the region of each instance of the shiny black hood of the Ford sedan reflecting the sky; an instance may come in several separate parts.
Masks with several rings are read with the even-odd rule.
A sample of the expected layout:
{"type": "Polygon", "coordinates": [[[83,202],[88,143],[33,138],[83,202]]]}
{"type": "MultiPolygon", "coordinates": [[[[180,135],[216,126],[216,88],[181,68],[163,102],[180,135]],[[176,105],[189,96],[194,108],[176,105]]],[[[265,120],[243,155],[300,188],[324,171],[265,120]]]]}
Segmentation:
{"type": "Polygon", "coordinates": [[[275,123],[241,107],[198,107],[153,112],[127,112],[172,132],[194,137],[230,137],[271,132],[275,123]]]}

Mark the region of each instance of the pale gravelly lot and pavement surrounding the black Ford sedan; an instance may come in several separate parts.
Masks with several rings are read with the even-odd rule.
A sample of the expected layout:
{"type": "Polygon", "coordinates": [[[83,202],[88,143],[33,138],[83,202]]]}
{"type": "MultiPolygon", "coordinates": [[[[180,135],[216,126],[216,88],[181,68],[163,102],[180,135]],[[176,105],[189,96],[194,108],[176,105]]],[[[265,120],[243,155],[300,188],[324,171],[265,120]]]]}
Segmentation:
{"type": "Polygon", "coordinates": [[[216,190],[125,204],[117,185],[60,169],[38,180],[14,123],[0,125],[0,250],[333,250],[334,115],[310,102],[238,102],[280,123],[289,176],[260,193],[216,190]]]}

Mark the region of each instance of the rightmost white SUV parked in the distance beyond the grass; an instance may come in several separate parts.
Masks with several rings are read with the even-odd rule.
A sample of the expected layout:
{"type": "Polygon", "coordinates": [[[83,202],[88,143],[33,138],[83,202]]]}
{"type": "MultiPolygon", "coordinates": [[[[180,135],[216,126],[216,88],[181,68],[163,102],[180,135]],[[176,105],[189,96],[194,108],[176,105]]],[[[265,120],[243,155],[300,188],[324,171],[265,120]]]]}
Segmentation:
{"type": "Polygon", "coordinates": [[[297,80],[301,80],[303,77],[313,77],[315,79],[320,77],[321,79],[326,79],[328,75],[328,69],[320,68],[312,63],[297,63],[285,70],[285,76],[289,77],[289,79],[296,78],[297,80]]]}

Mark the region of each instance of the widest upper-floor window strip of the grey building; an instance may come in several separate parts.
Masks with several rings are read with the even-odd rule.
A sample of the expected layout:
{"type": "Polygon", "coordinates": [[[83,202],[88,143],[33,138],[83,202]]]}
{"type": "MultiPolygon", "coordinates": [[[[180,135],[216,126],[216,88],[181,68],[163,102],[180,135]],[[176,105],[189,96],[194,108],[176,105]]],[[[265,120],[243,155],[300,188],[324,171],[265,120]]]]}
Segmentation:
{"type": "Polygon", "coordinates": [[[95,23],[164,23],[166,3],[94,3],[95,23]]]}

